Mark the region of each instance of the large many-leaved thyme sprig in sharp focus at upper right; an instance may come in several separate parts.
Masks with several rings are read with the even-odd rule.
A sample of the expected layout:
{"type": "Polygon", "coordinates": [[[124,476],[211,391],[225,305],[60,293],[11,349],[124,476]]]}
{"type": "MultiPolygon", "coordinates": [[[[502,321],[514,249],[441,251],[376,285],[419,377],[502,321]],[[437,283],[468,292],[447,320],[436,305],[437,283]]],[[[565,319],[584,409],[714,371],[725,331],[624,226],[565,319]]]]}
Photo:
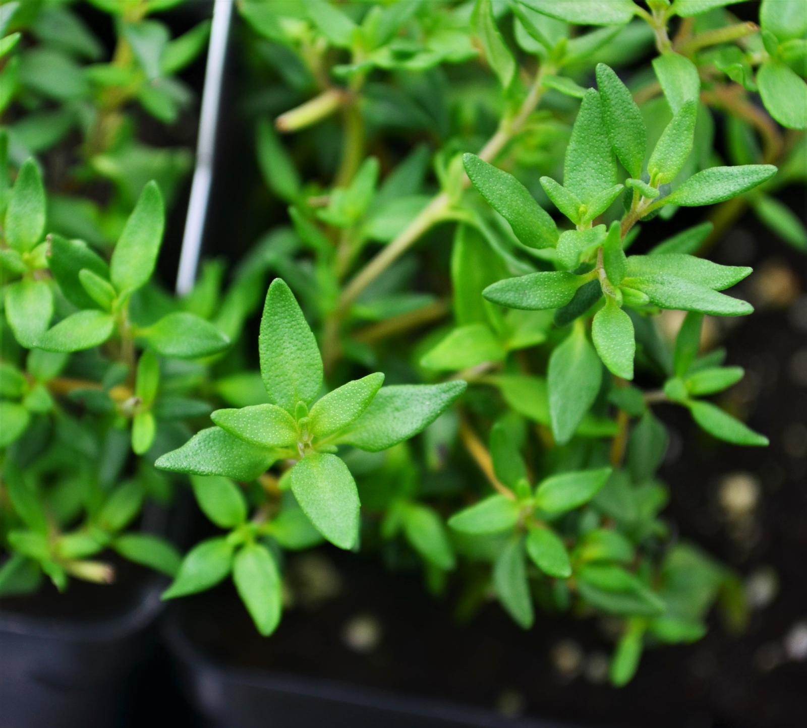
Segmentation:
{"type": "MultiPolygon", "coordinates": [[[[605,366],[633,378],[633,323],[623,307],[677,308],[715,316],[742,316],[751,306],[719,291],[733,286],[751,269],[719,266],[686,254],[630,256],[619,222],[609,228],[592,222],[621,194],[617,159],[630,178],[631,209],[641,219],[663,205],[713,204],[751,190],[776,173],[771,165],[713,167],[684,180],[670,194],[659,188],[674,180],[692,150],[696,100],[677,106],[675,115],[650,154],[645,169],[646,128],[629,90],[608,66],[597,66],[600,90],[589,89],[575,120],[564,165],[564,185],[541,178],[558,209],[575,224],[558,232],[554,220],[512,175],[466,154],[465,168],[483,198],[508,221],[522,245],[554,249],[560,270],[541,271],[496,282],[486,299],[509,308],[559,309],[567,323],[605,299],[596,312],[592,339],[605,366]]],[[[556,317],[556,320],[557,318],[556,317]]],[[[558,321],[560,323],[560,321],[558,321]]]]}

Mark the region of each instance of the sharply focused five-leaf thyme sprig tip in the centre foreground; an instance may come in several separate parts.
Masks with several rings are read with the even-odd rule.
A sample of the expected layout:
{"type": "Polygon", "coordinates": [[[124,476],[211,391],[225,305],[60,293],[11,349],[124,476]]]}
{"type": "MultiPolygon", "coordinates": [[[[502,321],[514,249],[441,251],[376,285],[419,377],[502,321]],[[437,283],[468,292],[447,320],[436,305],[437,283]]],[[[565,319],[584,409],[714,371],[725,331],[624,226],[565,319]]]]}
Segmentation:
{"type": "Polygon", "coordinates": [[[358,541],[356,483],[337,446],[378,452],[420,433],[462,394],[466,383],[382,387],[383,374],[349,382],[317,400],[323,366],[316,339],[281,279],[266,294],[258,339],[270,402],[220,409],[215,427],[163,455],[157,467],[250,481],[278,460],[295,461],[286,477],[300,508],[336,546],[358,541]]]}

